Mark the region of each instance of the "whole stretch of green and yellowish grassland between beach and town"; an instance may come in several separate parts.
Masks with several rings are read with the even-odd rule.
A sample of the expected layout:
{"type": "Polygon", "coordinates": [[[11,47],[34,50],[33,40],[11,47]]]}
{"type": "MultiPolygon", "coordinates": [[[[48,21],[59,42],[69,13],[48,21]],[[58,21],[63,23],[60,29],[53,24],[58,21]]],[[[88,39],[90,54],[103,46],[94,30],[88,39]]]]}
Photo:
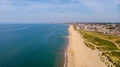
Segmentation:
{"type": "MultiPolygon", "coordinates": [[[[75,25],[74,28],[76,29],[75,25]]],[[[120,67],[120,49],[116,46],[116,44],[120,45],[120,37],[84,30],[79,32],[83,35],[87,47],[102,51],[113,65],[120,67]]]]}

